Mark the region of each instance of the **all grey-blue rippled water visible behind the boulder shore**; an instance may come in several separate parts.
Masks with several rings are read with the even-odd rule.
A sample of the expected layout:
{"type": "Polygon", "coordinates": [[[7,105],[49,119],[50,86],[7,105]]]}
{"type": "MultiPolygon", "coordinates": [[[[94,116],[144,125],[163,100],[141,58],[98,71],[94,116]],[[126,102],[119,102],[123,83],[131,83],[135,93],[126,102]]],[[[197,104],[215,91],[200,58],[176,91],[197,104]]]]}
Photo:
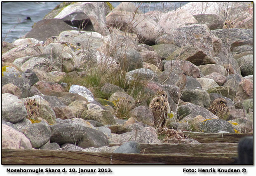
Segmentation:
{"type": "MultiPolygon", "coordinates": [[[[42,20],[61,2],[2,2],[2,41],[13,42],[31,30],[34,23],[42,20]],[[30,19],[27,19],[30,17],[30,19]]],[[[133,2],[146,13],[149,10],[169,11],[188,2],[133,2]]],[[[120,2],[111,2],[116,7],[120,2]]]]}

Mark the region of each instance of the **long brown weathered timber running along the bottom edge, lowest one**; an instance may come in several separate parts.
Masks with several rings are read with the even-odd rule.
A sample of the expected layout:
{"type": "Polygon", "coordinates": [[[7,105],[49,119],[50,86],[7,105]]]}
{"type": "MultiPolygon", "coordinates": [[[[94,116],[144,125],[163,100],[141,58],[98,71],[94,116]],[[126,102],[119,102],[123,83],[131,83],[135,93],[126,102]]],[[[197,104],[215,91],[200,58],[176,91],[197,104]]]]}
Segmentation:
{"type": "Polygon", "coordinates": [[[2,164],[235,164],[235,157],[2,150],[2,164]]]}

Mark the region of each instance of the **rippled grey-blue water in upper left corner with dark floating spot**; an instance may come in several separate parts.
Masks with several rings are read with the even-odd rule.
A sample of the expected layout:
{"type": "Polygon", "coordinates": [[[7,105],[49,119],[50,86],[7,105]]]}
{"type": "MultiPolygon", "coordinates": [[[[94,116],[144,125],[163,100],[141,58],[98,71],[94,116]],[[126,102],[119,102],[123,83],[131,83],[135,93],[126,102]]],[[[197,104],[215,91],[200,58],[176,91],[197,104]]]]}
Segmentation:
{"type": "Polygon", "coordinates": [[[13,42],[61,2],[2,2],[2,41],[13,42]],[[31,20],[27,20],[27,17],[31,20]]]}

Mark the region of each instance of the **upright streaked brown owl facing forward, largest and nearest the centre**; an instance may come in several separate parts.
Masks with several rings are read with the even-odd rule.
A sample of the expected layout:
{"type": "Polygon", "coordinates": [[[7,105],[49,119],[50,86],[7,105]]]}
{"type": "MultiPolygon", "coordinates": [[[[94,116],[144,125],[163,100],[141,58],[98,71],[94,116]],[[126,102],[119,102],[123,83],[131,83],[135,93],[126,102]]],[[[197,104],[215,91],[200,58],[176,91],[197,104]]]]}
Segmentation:
{"type": "Polygon", "coordinates": [[[163,96],[156,96],[150,101],[149,108],[155,118],[154,127],[161,128],[167,119],[168,101],[163,96]]]}

